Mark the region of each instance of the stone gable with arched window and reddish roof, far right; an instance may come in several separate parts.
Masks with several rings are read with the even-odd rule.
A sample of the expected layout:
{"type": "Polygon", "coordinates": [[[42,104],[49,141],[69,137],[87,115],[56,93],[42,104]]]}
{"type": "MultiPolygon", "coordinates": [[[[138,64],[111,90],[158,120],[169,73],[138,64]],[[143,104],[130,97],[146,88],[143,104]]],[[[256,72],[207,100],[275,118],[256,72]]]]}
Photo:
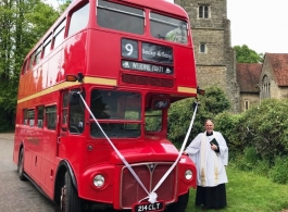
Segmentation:
{"type": "Polygon", "coordinates": [[[265,53],[259,82],[260,100],[288,98],[288,53],[265,53]]]}

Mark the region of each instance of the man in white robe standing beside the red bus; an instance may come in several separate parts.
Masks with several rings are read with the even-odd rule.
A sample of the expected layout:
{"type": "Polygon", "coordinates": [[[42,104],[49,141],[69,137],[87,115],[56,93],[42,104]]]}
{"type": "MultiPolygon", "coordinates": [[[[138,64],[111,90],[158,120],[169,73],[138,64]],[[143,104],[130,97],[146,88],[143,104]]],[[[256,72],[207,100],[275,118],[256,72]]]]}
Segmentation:
{"type": "Polygon", "coordinates": [[[213,130],[211,120],[205,122],[205,129],[191,141],[184,153],[197,166],[196,205],[221,209],[227,204],[225,184],[228,179],[225,165],[228,164],[228,147],[222,134],[213,130]]]}

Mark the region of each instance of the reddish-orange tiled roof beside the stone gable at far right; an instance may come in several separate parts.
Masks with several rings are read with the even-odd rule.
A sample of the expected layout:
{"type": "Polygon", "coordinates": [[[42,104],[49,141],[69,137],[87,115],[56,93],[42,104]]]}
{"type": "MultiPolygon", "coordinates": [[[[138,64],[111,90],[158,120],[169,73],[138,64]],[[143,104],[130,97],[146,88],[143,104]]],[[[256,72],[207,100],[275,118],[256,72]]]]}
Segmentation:
{"type": "Polygon", "coordinates": [[[265,53],[278,86],[288,86],[288,53],[265,53]]]}

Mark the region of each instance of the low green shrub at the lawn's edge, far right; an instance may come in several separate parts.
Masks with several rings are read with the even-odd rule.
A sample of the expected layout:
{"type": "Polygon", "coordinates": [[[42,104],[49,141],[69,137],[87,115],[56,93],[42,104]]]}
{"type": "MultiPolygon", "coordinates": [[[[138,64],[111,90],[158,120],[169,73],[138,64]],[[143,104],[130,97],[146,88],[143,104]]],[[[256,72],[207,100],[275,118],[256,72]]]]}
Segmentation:
{"type": "Polygon", "coordinates": [[[277,157],[275,164],[271,170],[271,178],[274,183],[287,184],[288,183],[288,157],[277,157]]]}

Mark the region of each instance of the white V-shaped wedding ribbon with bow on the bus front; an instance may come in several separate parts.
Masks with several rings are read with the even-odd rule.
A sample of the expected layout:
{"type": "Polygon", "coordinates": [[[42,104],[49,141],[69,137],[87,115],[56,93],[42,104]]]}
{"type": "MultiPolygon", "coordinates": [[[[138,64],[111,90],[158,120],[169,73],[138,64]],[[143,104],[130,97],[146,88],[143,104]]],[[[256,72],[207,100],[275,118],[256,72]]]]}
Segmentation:
{"type": "Polygon", "coordinates": [[[189,129],[186,134],[186,137],[185,137],[185,140],[184,140],[184,144],[181,146],[181,149],[179,151],[179,154],[176,159],[176,161],[173,163],[173,165],[167,170],[167,172],[163,175],[163,177],[160,179],[160,182],[155,185],[154,189],[149,194],[149,191],[146,189],[146,187],[143,186],[142,182],[140,180],[140,178],[137,176],[137,174],[134,172],[134,170],[132,169],[130,164],[126,161],[126,159],[122,155],[122,153],[117,150],[117,148],[113,145],[113,142],[110,140],[110,138],[107,136],[105,132],[102,129],[102,127],[100,126],[99,122],[97,121],[97,119],[95,117],[93,113],[91,112],[91,110],[89,109],[89,107],[87,105],[86,101],[84,100],[84,98],[82,97],[80,92],[78,91],[77,92],[80,98],[82,98],[82,101],[84,102],[86,109],[89,111],[90,115],[92,116],[95,123],[98,125],[98,127],[100,128],[100,130],[102,132],[102,134],[104,135],[104,137],[108,139],[109,144],[111,145],[111,147],[114,149],[114,151],[117,153],[118,158],[122,160],[122,162],[126,165],[126,167],[130,171],[132,175],[135,177],[135,179],[139,183],[139,185],[142,187],[142,189],[147,192],[147,197],[139,200],[139,202],[141,202],[142,200],[145,199],[148,199],[148,201],[150,203],[154,203],[156,202],[156,198],[158,198],[158,195],[155,194],[155,190],[162,185],[162,183],[166,179],[166,177],[168,176],[168,174],[172,172],[172,170],[175,167],[175,165],[178,163],[181,154],[183,154],[183,151],[184,151],[184,148],[187,144],[187,140],[188,140],[188,137],[190,135],[190,132],[191,132],[191,128],[192,128],[192,125],[193,125],[193,121],[195,121],[195,116],[196,116],[196,111],[197,111],[197,108],[198,108],[198,102],[196,102],[196,108],[195,108],[195,112],[193,112],[193,115],[192,115],[192,120],[190,122],[190,126],[189,126],[189,129]]]}

